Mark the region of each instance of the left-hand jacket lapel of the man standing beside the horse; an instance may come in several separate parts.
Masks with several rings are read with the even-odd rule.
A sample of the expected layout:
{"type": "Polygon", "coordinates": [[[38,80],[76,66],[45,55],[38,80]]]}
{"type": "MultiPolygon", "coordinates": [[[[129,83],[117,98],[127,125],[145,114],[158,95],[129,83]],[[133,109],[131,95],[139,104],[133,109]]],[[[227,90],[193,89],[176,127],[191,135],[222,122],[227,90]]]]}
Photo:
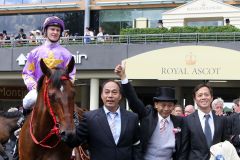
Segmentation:
{"type": "Polygon", "coordinates": [[[107,138],[111,140],[111,142],[115,145],[114,138],[108,124],[107,116],[103,108],[100,108],[98,111],[97,122],[100,125],[101,130],[103,130],[103,132],[105,132],[105,134],[107,135],[107,138]]]}

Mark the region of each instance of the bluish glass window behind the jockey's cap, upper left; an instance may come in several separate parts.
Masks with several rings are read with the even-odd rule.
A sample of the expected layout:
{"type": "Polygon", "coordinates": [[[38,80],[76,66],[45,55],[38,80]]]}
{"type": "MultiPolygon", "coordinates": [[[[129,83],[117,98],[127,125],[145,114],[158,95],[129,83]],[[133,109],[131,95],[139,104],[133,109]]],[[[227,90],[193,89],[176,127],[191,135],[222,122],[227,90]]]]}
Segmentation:
{"type": "MultiPolygon", "coordinates": [[[[26,15],[8,15],[0,16],[0,28],[6,30],[9,35],[15,37],[20,28],[29,36],[32,30],[42,30],[42,24],[45,18],[56,15],[65,22],[65,28],[69,29],[71,34],[79,33],[83,35],[83,11],[66,13],[47,13],[47,14],[26,14],[26,15]],[[79,19],[79,21],[78,21],[79,19]]],[[[1,32],[1,31],[0,31],[1,32]]]]}

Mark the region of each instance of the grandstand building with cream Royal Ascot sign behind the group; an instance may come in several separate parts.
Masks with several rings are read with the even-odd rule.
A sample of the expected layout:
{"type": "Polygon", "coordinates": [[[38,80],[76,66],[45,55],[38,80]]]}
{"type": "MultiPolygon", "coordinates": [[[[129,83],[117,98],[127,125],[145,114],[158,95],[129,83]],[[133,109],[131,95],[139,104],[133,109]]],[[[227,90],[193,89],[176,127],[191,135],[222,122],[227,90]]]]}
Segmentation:
{"type": "MultiPolygon", "coordinates": [[[[216,0],[2,0],[0,32],[6,30],[14,37],[20,28],[26,34],[41,30],[43,20],[50,15],[63,18],[73,36],[82,36],[86,26],[96,34],[102,26],[114,43],[75,43],[72,38],[74,43],[66,44],[76,61],[76,101],[90,109],[101,104],[100,84],[116,78],[113,69],[122,60],[126,60],[128,77],[146,104],[152,102],[157,86],[173,86],[181,104],[193,103],[191,91],[203,81],[211,83],[215,97],[232,101],[240,95],[238,33],[228,34],[230,38],[221,40],[214,34],[212,39],[204,41],[200,41],[204,35],[192,34],[196,39],[187,42],[151,42],[147,38],[136,42],[127,37],[124,43],[120,36],[111,35],[118,35],[122,28],[156,28],[159,22],[167,28],[229,23],[240,27],[239,4],[238,1],[216,0]]],[[[0,48],[2,109],[21,104],[26,93],[21,70],[33,47],[12,44],[0,48]]]]}

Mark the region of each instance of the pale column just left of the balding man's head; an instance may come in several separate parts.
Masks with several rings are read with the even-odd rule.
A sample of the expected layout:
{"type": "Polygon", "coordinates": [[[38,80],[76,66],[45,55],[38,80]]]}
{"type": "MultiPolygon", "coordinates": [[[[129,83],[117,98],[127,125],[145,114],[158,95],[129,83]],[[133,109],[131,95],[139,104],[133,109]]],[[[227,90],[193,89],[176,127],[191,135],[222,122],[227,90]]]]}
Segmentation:
{"type": "Polygon", "coordinates": [[[90,110],[99,107],[99,79],[90,80],[90,110]]]}

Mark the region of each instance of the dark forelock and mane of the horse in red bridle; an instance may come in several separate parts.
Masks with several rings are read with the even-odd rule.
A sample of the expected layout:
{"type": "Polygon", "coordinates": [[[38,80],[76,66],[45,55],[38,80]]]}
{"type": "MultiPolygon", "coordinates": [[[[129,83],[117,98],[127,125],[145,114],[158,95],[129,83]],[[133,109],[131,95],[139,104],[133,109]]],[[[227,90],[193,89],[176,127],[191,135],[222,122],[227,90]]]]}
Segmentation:
{"type": "MultiPolygon", "coordinates": [[[[61,87],[61,76],[63,75],[63,70],[61,70],[60,68],[54,68],[54,69],[55,69],[55,71],[51,75],[50,80],[52,81],[53,87],[60,88],[61,87]]],[[[37,85],[38,92],[42,88],[44,77],[45,77],[45,75],[42,75],[38,80],[38,85],[37,85]]]]}

